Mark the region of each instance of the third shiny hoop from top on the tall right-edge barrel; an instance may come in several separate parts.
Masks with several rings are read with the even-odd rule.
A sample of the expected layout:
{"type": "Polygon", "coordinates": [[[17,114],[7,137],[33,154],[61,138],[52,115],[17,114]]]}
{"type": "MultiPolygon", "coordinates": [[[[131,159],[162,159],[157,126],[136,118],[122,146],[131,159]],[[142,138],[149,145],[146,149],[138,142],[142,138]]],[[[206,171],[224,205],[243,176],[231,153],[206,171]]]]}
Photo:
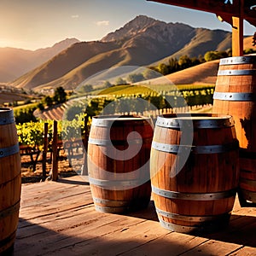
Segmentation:
{"type": "Polygon", "coordinates": [[[256,100],[256,94],[215,91],[213,94],[213,100],[228,101],[228,102],[253,102],[256,100]]]}

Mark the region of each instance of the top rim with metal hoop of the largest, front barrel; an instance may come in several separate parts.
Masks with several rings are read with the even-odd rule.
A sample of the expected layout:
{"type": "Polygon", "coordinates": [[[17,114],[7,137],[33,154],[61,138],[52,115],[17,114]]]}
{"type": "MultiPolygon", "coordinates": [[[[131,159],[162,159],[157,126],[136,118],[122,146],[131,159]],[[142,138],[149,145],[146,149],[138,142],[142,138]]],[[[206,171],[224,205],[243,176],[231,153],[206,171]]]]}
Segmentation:
{"type": "Polygon", "coordinates": [[[234,126],[234,120],[230,115],[214,113],[178,113],[159,116],[156,126],[180,129],[181,127],[201,128],[225,128],[234,126]]]}

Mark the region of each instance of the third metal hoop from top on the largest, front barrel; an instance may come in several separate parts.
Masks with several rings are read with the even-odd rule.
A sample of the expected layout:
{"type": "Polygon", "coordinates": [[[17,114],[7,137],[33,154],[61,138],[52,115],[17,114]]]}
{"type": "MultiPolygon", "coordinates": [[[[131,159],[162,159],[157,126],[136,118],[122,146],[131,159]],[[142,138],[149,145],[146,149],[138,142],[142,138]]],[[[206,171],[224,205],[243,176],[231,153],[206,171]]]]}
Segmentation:
{"type": "Polygon", "coordinates": [[[180,199],[189,201],[212,201],[224,198],[229,198],[236,195],[236,189],[230,189],[224,192],[215,193],[182,193],[176,191],[170,191],[165,189],[159,189],[151,185],[152,192],[156,195],[160,195],[170,199],[180,199]]]}

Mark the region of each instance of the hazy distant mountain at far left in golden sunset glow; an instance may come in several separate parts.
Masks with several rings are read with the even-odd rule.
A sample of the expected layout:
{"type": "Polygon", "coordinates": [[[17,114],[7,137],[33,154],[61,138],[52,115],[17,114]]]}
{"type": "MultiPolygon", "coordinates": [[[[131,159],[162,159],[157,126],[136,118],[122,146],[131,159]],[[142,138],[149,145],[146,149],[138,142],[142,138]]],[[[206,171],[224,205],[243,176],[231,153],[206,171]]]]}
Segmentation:
{"type": "Polygon", "coordinates": [[[79,40],[67,38],[52,47],[37,50],[0,48],[0,82],[19,78],[75,43],[79,43],[79,40]]]}

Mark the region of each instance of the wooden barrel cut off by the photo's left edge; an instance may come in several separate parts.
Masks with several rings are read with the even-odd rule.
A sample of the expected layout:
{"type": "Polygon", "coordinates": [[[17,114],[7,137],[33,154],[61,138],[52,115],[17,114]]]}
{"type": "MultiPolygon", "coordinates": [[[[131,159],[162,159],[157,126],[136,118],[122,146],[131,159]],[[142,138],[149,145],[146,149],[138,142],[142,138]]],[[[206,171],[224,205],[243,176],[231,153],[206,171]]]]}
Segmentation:
{"type": "Polygon", "coordinates": [[[0,108],[0,255],[8,254],[14,246],[20,190],[20,150],[14,113],[10,108],[0,108]]]}

